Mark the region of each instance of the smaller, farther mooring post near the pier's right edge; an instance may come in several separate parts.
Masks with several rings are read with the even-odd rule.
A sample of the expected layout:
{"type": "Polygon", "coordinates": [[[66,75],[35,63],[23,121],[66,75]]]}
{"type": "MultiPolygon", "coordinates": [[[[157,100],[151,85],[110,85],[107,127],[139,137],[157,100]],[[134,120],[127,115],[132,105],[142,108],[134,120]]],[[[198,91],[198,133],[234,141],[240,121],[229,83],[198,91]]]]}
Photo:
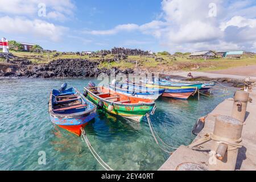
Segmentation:
{"type": "Polygon", "coordinates": [[[232,117],[239,121],[245,121],[245,114],[247,108],[247,102],[249,99],[249,92],[237,91],[234,94],[234,104],[232,109],[232,117]]]}

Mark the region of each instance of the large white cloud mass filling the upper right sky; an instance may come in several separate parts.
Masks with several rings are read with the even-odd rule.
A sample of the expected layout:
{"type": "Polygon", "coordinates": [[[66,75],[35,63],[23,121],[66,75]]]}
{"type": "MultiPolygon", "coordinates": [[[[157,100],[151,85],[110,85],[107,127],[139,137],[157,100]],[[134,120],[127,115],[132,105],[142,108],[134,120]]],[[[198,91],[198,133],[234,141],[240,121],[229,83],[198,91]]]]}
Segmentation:
{"type": "MultiPolygon", "coordinates": [[[[168,51],[201,49],[251,49],[256,42],[256,6],[254,1],[163,0],[160,20],[142,25],[121,24],[110,30],[85,31],[92,35],[115,35],[140,31],[152,35],[168,51]],[[217,7],[210,16],[210,3],[217,7]]],[[[137,40],[136,43],[143,43],[137,40]]],[[[131,42],[130,42],[131,43],[131,42]]]]}

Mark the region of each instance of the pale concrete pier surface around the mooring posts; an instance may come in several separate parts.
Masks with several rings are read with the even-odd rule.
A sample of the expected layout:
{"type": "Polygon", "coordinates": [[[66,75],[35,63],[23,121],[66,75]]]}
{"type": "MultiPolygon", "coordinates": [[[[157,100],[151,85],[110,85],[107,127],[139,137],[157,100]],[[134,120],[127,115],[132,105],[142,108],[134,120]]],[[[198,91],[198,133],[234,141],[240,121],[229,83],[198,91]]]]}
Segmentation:
{"type": "MultiPolygon", "coordinates": [[[[245,122],[242,129],[242,148],[238,149],[236,170],[255,171],[256,170],[256,87],[249,92],[252,99],[247,104],[245,122]]],[[[216,117],[219,115],[232,116],[234,99],[229,98],[218,105],[205,119],[204,129],[199,133],[193,142],[204,138],[205,134],[213,133],[216,117]]],[[[214,141],[201,144],[193,149],[187,146],[180,146],[167,161],[159,168],[160,171],[176,171],[182,164],[199,165],[200,168],[211,170],[210,163],[215,160],[210,148],[214,141]]],[[[186,167],[189,170],[189,167],[186,167]]],[[[191,167],[191,170],[195,167],[191,167]]],[[[228,169],[226,169],[228,170],[228,169]]]]}

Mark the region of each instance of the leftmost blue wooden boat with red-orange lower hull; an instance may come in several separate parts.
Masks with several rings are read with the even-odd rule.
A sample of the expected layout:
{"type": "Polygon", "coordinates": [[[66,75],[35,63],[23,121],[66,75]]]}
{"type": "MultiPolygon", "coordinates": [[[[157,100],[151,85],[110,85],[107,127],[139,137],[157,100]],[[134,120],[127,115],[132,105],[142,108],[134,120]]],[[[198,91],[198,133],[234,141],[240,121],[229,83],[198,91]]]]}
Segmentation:
{"type": "Polygon", "coordinates": [[[67,88],[67,84],[60,90],[53,89],[49,97],[49,114],[52,123],[81,135],[89,121],[96,117],[97,106],[85,98],[76,88],[67,88]]]}

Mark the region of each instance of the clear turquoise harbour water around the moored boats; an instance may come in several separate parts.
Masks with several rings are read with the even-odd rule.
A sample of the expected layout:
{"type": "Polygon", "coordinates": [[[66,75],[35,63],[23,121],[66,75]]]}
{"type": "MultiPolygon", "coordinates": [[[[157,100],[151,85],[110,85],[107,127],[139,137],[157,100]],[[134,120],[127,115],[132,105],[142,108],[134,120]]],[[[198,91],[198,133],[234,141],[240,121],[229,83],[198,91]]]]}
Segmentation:
{"type": "MultiPolygon", "coordinates": [[[[65,81],[82,92],[90,80],[98,82],[95,78],[0,78],[0,169],[103,170],[80,137],[51,123],[47,108],[52,88],[65,81]],[[46,152],[46,165],[38,164],[39,151],[46,152]]],[[[214,96],[201,96],[200,101],[160,98],[152,124],[169,145],[188,145],[195,138],[191,129],[197,118],[233,92],[228,96],[213,90],[214,96]]],[[[156,170],[169,156],[155,143],[146,118],[137,124],[99,111],[85,130],[94,149],[113,169],[156,170]]]]}

